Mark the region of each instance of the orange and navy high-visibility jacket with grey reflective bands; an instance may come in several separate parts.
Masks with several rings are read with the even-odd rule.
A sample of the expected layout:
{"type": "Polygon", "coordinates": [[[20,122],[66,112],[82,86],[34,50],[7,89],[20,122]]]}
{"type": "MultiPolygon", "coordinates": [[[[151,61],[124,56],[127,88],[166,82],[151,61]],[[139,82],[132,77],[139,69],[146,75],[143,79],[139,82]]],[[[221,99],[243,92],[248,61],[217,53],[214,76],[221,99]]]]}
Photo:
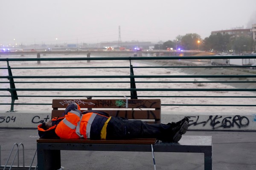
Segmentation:
{"type": "Polygon", "coordinates": [[[65,109],[62,117],[52,118],[52,127],[49,129],[44,130],[41,128],[42,124],[38,125],[38,134],[40,138],[104,139],[107,126],[105,122],[108,122],[108,119],[110,119],[108,113],[101,111],[81,113],[79,105],[71,103],[65,109]]]}

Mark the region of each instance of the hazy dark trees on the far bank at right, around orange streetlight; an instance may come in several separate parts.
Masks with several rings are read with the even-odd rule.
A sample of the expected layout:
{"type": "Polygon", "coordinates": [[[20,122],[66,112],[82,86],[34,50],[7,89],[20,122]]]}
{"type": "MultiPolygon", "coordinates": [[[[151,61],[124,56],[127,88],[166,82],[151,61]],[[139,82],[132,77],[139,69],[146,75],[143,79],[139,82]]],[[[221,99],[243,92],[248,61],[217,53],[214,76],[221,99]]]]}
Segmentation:
{"type": "Polygon", "coordinates": [[[230,34],[212,34],[204,40],[198,34],[178,35],[175,40],[168,40],[154,45],[156,50],[204,50],[228,53],[247,53],[255,50],[256,42],[252,36],[233,36],[230,34]]]}

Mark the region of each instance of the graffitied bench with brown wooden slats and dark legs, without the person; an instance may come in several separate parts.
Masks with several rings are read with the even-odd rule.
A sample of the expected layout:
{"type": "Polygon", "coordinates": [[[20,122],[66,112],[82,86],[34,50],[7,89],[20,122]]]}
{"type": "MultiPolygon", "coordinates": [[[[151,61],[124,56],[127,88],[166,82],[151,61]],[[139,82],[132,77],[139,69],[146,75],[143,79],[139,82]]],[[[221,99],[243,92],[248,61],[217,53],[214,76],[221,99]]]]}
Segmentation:
{"type": "MultiPolygon", "coordinates": [[[[52,117],[61,116],[71,102],[85,110],[101,110],[110,116],[141,119],[160,123],[160,99],[53,99],[52,117]]],[[[38,170],[57,170],[61,167],[60,150],[138,151],[138,152],[204,153],[204,169],[212,170],[212,136],[183,136],[178,143],[156,139],[37,139],[38,170]]]]}

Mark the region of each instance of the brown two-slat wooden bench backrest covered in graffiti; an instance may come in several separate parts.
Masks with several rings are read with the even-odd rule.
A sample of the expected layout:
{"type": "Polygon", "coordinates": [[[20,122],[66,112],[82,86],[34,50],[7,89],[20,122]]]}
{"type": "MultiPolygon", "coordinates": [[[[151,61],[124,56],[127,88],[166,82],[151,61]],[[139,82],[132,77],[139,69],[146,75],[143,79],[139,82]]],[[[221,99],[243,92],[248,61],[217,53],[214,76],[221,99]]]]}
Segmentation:
{"type": "Polygon", "coordinates": [[[81,111],[105,111],[110,116],[160,123],[160,99],[53,99],[52,117],[62,116],[68,104],[79,104],[81,111]]]}

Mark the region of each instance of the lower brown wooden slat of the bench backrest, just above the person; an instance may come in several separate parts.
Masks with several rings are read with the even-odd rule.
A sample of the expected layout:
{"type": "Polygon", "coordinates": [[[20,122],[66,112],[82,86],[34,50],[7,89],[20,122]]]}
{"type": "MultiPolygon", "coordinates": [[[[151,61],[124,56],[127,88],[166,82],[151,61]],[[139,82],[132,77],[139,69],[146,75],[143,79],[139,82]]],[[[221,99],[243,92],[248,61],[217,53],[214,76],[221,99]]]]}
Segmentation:
{"type": "MultiPolygon", "coordinates": [[[[103,110],[101,110],[103,111],[103,110]]],[[[125,117],[126,119],[160,119],[160,110],[150,110],[150,111],[118,111],[118,110],[104,110],[109,113],[110,116],[125,117]]],[[[52,117],[62,116],[64,110],[52,110],[52,117]]]]}

